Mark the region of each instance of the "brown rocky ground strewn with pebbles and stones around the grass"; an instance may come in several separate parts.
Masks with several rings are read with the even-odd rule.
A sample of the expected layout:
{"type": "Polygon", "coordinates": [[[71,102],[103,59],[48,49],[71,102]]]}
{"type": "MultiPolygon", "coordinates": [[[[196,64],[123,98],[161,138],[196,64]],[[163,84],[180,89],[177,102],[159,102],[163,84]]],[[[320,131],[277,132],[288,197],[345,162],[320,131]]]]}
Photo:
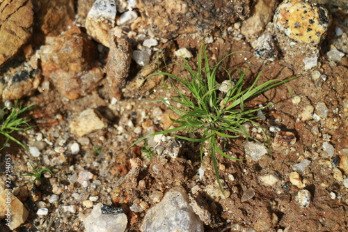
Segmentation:
{"type": "MultiPolygon", "coordinates": [[[[347,1],[319,2],[327,5],[1,1],[1,107],[19,99],[35,108],[21,115],[33,128],[13,133],[28,149],[10,141],[0,151],[0,230],[347,231],[347,1]],[[148,146],[160,153],[152,160],[144,141],[129,148],[171,127],[171,109],[152,101],[173,98],[175,88],[167,77],[146,77],[165,67],[184,77],[169,64],[196,67],[203,41],[212,65],[244,51],[221,63],[249,67],[244,86],[261,70],[260,83],[298,76],[247,102],[276,102],[257,119],[271,155],[267,141],[219,141],[244,159],[216,155],[224,194],[200,144],[152,137],[148,146]],[[32,183],[22,176],[31,165],[52,173],[32,183]]],[[[218,82],[225,79],[220,70],[218,82]]],[[[244,127],[263,139],[260,128],[244,127]]],[[[0,134],[1,146],[5,140],[0,134]]]]}

